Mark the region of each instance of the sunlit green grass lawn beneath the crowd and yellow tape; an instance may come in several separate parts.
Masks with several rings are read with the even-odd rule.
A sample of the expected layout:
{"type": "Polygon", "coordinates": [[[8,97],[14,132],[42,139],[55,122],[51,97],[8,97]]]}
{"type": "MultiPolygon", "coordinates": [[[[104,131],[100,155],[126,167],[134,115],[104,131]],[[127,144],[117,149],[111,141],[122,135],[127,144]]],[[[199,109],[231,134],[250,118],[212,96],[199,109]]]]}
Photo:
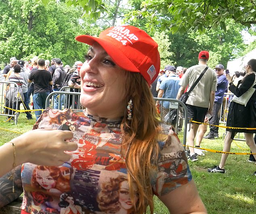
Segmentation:
{"type": "MultiPolygon", "coordinates": [[[[33,117],[34,116],[34,113],[33,117]]],[[[27,120],[25,113],[21,113],[18,124],[4,122],[6,117],[0,116],[0,128],[16,132],[31,130],[35,120],[27,120]]],[[[1,144],[8,142],[19,133],[0,129],[1,144]]],[[[220,128],[219,134],[225,132],[220,128]]],[[[182,135],[179,135],[182,140],[182,135]]],[[[203,139],[201,147],[222,151],[223,140],[203,139]]],[[[250,149],[243,141],[234,141],[231,145],[232,152],[250,152],[250,149]]],[[[250,214],[256,212],[256,164],[246,162],[248,155],[229,155],[225,166],[225,174],[210,174],[208,167],[218,165],[221,154],[205,152],[204,157],[199,157],[197,162],[189,162],[193,179],[209,214],[250,214]]],[[[155,199],[155,214],[166,214],[168,210],[157,197],[155,199]]],[[[184,201],[186,203],[186,201],[184,201]]]]}

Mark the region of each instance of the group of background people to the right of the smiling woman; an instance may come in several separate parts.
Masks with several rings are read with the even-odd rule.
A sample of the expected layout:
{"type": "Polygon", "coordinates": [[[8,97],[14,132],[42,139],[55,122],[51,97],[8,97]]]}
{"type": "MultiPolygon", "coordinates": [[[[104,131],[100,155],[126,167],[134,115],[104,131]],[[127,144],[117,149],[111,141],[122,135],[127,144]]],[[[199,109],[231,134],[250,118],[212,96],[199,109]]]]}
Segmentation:
{"type": "MultiPolygon", "coordinates": [[[[197,82],[195,88],[193,88],[189,94],[189,98],[186,102],[188,118],[195,122],[199,122],[192,122],[191,124],[188,124],[190,127],[187,128],[187,130],[189,130],[187,132],[187,145],[189,146],[188,158],[192,162],[198,161],[198,155],[205,155],[202,150],[199,149],[203,138],[218,138],[218,125],[220,115],[222,115],[223,111],[221,106],[223,104],[225,106],[223,101],[226,102],[226,99],[224,99],[225,92],[231,92],[235,96],[241,97],[246,91],[250,90],[250,88],[252,88],[252,90],[256,88],[255,59],[251,59],[248,62],[248,65],[244,67],[243,71],[235,71],[233,75],[230,75],[229,71],[225,70],[222,64],[217,64],[214,70],[209,68],[207,66],[209,57],[208,51],[201,51],[198,55],[199,64],[186,69],[186,72],[184,72],[183,67],[181,66],[175,68],[172,65],[166,65],[164,70],[160,70],[159,77],[155,80],[155,84],[151,85],[153,97],[180,99],[181,95],[184,92],[189,91],[197,79],[199,79],[199,82],[197,82]],[[206,69],[206,71],[204,71],[204,69],[206,69]],[[201,73],[204,74],[199,78],[201,73]],[[208,127],[206,123],[211,125],[210,131],[206,136],[204,136],[208,127]]],[[[256,123],[254,120],[256,118],[255,101],[255,93],[250,94],[250,97],[248,97],[248,104],[246,106],[241,105],[241,103],[237,104],[235,99],[233,101],[232,99],[229,99],[229,112],[227,115],[228,128],[225,136],[223,151],[229,152],[230,145],[235,134],[237,132],[244,132],[246,143],[250,147],[251,153],[256,152],[256,135],[253,138],[253,134],[256,133],[256,130],[245,129],[256,128],[256,123]],[[233,127],[236,129],[232,129],[233,127]]],[[[157,107],[162,105],[160,107],[160,109],[162,109],[162,120],[164,120],[166,115],[170,113],[169,104],[170,103],[168,101],[156,101],[157,107]]],[[[182,109],[179,109],[178,112],[179,120],[177,132],[180,132],[183,126],[183,111],[182,109]]],[[[227,156],[228,154],[222,154],[220,165],[209,168],[208,172],[225,173],[224,166],[227,156]]],[[[256,155],[250,155],[248,161],[255,162],[255,157],[256,155]]]]}

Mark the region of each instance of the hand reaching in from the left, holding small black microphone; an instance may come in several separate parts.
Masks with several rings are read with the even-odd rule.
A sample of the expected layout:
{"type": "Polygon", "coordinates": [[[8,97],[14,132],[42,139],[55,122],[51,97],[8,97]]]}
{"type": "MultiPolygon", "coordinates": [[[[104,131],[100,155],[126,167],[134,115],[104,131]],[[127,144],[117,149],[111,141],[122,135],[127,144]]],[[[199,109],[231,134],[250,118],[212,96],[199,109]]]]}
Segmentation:
{"type": "Polygon", "coordinates": [[[22,134],[11,141],[16,147],[16,166],[25,162],[60,166],[71,157],[65,151],[78,148],[77,143],[69,141],[72,138],[71,131],[62,130],[36,129],[22,134]]]}

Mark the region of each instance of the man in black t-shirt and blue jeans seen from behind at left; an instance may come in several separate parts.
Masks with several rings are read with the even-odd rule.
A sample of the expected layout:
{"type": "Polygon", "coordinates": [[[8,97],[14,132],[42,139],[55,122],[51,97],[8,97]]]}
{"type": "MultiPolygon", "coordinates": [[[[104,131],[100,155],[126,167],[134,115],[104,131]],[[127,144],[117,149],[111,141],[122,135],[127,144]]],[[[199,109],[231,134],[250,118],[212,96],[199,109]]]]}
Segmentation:
{"type": "MultiPolygon", "coordinates": [[[[35,109],[45,109],[45,101],[50,94],[50,87],[52,85],[52,76],[49,71],[44,69],[44,59],[38,60],[38,69],[31,71],[28,81],[34,81],[33,102],[35,109]]],[[[36,120],[38,120],[41,114],[42,111],[35,111],[36,120]]]]}

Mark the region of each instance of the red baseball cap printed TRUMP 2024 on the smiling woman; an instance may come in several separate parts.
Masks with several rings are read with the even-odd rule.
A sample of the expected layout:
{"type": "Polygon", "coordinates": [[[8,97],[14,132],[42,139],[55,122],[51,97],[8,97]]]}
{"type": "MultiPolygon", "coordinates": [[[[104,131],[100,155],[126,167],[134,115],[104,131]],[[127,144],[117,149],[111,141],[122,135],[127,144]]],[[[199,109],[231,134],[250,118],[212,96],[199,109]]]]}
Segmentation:
{"type": "Polygon", "coordinates": [[[109,27],[99,37],[80,35],[76,40],[89,45],[99,43],[118,66],[126,71],[141,73],[149,85],[158,76],[158,45],[145,31],[137,27],[109,27]]]}

